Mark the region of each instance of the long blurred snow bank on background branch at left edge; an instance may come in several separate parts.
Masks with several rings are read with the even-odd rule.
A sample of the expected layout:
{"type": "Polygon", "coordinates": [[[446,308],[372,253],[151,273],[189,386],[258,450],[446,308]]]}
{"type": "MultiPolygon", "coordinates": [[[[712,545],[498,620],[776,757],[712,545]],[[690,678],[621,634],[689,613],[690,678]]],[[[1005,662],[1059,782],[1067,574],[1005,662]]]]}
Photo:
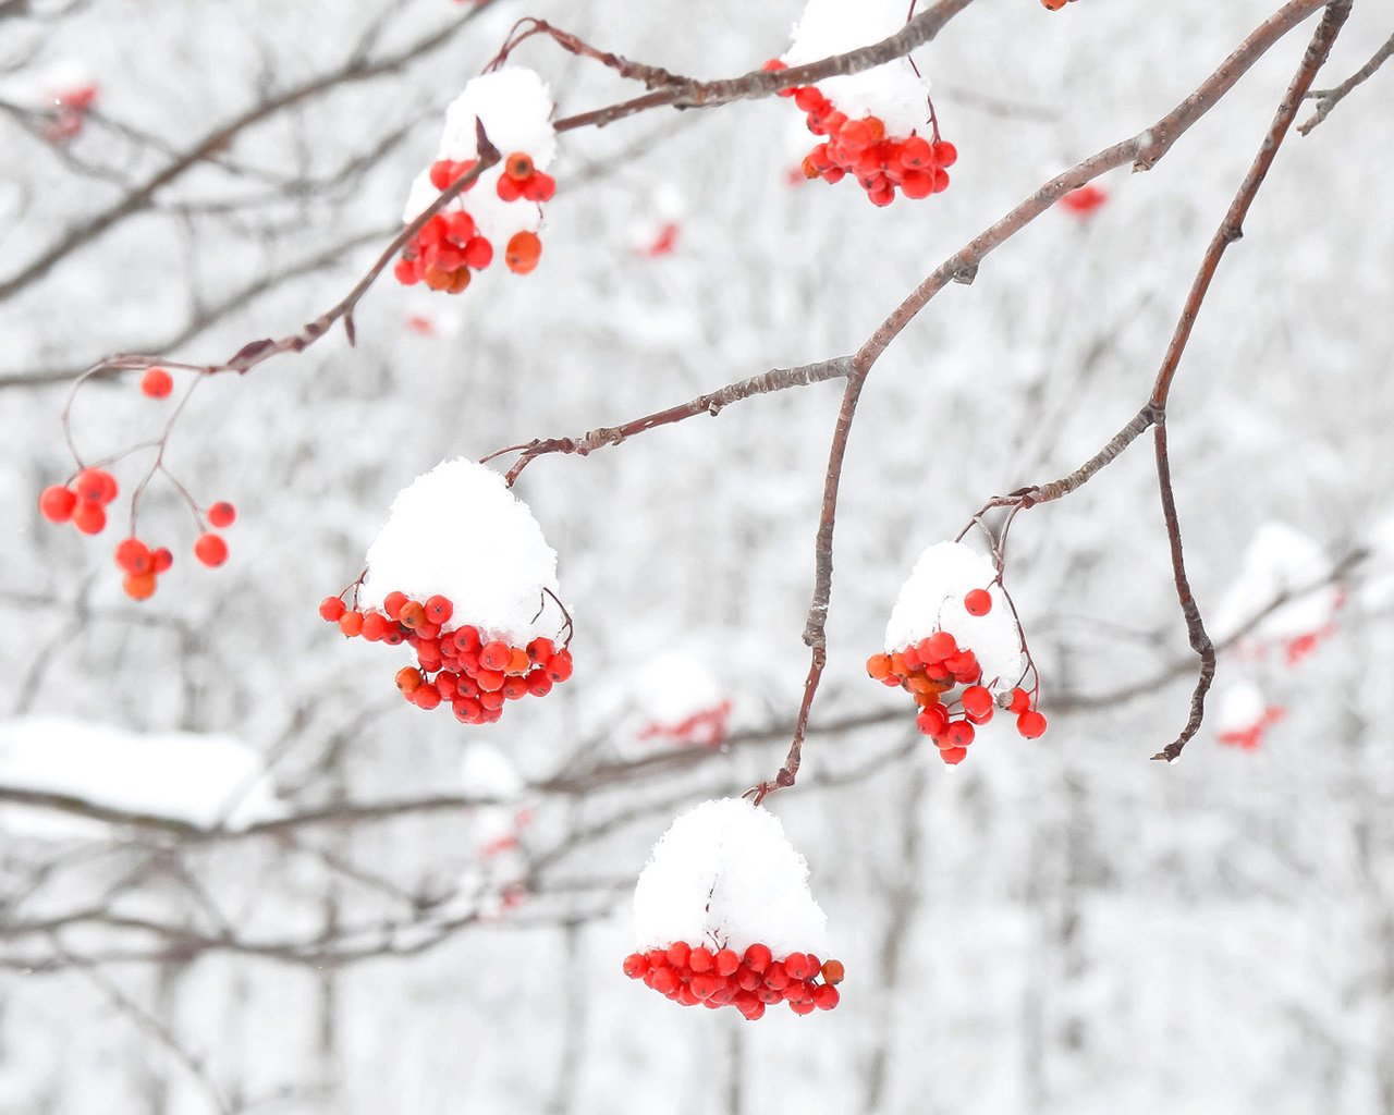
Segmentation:
{"type": "MultiPolygon", "coordinates": [[[[0,786],[77,797],[199,828],[243,829],[284,815],[261,755],[238,740],[194,732],[128,732],[63,716],[0,723],[0,786]]],[[[106,832],[88,824],[68,831],[49,826],[35,810],[11,817],[7,808],[0,817],[6,826],[35,836],[106,832]]]]}

